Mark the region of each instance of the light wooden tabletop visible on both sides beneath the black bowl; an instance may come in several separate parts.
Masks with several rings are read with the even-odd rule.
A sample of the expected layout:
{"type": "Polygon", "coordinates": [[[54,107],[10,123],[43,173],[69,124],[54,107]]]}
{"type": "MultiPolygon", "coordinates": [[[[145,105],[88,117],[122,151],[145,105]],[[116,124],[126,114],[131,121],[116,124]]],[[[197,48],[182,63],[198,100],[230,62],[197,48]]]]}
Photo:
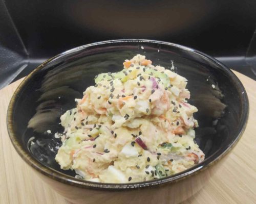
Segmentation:
{"type": "MultiPolygon", "coordinates": [[[[188,203],[256,203],[256,82],[235,72],[245,86],[250,116],[245,133],[225,163],[188,203]]],[[[18,156],[8,136],[9,100],[21,80],[0,90],[0,203],[70,203],[43,183],[18,156]]]]}

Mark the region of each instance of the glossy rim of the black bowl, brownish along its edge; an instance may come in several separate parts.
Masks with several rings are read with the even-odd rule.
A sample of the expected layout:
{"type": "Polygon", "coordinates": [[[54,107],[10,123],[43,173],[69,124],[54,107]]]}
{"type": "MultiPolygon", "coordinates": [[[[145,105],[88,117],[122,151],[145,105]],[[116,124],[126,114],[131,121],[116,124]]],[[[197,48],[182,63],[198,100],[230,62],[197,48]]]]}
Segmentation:
{"type": "Polygon", "coordinates": [[[89,189],[96,189],[96,190],[125,190],[125,189],[137,189],[137,188],[145,188],[145,187],[150,187],[150,186],[157,186],[165,183],[175,183],[180,180],[185,179],[188,176],[195,175],[196,173],[207,169],[209,166],[212,164],[218,162],[221,158],[223,158],[240,140],[242,137],[242,134],[244,133],[247,120],[248,120],[248,115],[249,115],[249,100],[248,96],[246,93],[246,90],[241,83],[241,81],[238,79],[238,77],[230,70],[228,69],[225,65],[223,65],[221,62],[219,62],[217,59],[208,56],[207,54],[204,54],[196,49],[189,48],[183,45],[179,45],[176,43],[170,43],[170,42],[165,42],[165,41],[158,41],[158,40],[147,40],[147,39],[119,39],[119,40],[107,40],[107,41],[100,41],[100,42],[95,42],[95,43],[90,43],[82,46],[78,46],[72,49],[69,49],[65,52],[62,52],[48,60],[46,60],[44,63],[40,64],[38,67],[36,67],[31,73],[27,75],[27,77],[19,84],[15,92],[13,93],[13,96],[10,100],[8,110],[7,110],[7,129],[9,133],[10,140],[17,151],[18,155],[22,157],[22,159],[30,165],[34,170],[36,170],[39,173],[44,174],[45,176],[50,177],[51,179],[68,184],[71,186],[76,186],[80,188],[89,188],[89,189]],[[203,162],[200,164],[195,165],[194,167],[191,167],[185,171],[182,171],[178,174],[174,174],[172,176],[167,176],[162,179],[157,179],[157,180],[150,180],[146,182],[137,182],[137,183],[124,183],[124,184],[112,184],[112,183],[96,183],[96,182],[90,182],[86,180],[80,180],[76,179],[73,176],[67,175],[65,173],[61,173],[55,169],[52,169],[50,167],[47,167],[45,165],[42,165],[40,162],[38,162],[36,159],[34,159],[30,154],[28,154],[23,148],[22,145],[19,144],[17,138],[17,135],[14,131],[13,128],[13,123],[12,123],[12,118],[13,118],[13,110],[15,107],[16,99],[18,98],[19,94],[22,93],[23,87],[25,87],[30,79],[33,77],[35,73],[37,73],[39,70],[44,68],[47,64],[57,60],[60,57],[66,56],[71,53],[79,52],[80,50],[86,49],[88,47],[94,47],[97,45],[104,45],[104,44],[113,44],[113,43],[155,43],[155,44],[163,44],[163,45],[168,45],[168,46],[173,46],[173,47],[178,47],[179,49],[186,50],[188,52],[197,54],[198,56],[202,58],[206,58],[207,60],[210,60],[211,62],[214,62],[215,64],[218,64],[220,69],[224,71],[229,77],[231,77],[232,81],[234,84],[236,84],[236,87],[240,87],[242,90],[242,93],[240,93],[240,98],[242,99],[242,117],[241,117],[241,122],[239,123],[238,126],[238,131],[235,133],[237,136],[236,138],[231,141],[228,146],[222,150],[217,150],[215,154],[209,156],[207,159],[205,159],[203,162]]]}

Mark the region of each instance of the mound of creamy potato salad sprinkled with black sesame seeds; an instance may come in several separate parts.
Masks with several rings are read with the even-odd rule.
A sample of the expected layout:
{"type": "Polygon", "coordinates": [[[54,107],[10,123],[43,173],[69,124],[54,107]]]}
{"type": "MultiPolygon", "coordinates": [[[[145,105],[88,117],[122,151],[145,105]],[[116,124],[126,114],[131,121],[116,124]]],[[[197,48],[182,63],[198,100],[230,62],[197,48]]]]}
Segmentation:
{"type": "Polygon", "coordinates": [[[145,56],[125,60],[123,70],[100,73],[95,85],[61,115],[65,128],[55,160],[76,177],[101,183],[159,179],[204,160],[195,143],[187,80],[152,65],[145,56]]]}

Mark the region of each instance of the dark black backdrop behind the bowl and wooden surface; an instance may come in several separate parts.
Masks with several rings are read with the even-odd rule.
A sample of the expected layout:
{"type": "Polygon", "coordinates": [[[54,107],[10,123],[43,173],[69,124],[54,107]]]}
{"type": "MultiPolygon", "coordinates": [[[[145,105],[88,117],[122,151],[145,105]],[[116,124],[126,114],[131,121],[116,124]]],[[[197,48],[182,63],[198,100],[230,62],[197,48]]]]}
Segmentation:
{"type": "Polygon", "coordinates": [[[249,0],[0,0],[0,88],[67,49],[121,38],[189,46],[256,79],[255,11],[249,0]]]}

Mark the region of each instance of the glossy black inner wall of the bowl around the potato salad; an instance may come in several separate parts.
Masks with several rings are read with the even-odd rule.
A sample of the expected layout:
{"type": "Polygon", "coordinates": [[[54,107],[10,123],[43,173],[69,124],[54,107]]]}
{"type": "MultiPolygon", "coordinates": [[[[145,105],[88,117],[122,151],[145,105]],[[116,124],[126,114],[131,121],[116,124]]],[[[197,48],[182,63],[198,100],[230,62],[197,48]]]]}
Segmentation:
{"type": "MultiPolygon", "coordinates": [[[[19,87],[11,118],[13,132],[22,148],[39,163],[63,171],[54,157],[61,132],[60,115],[76,106],[74,98],[94,85],[101,72],[121,70],[123,61],[145,55],[154,65],[175,71],[188,80],[189,103],[198,108],[196,142],[205,152],[203,164],[216,159],[238,138],[244,121],[245,96],[240,82],[221,64],[188,48],[150,41],[117,41],[83,46],[40,66],[19,87]],[[215,88],[212,88],[212,86],[215,88]],[[51,133],[49,133],[49,131],[51,133]],[[33,145],[31,145],[33,144],[33,145]]],[[[245,93],[246,95],[246,93],[245,93]]]]}

